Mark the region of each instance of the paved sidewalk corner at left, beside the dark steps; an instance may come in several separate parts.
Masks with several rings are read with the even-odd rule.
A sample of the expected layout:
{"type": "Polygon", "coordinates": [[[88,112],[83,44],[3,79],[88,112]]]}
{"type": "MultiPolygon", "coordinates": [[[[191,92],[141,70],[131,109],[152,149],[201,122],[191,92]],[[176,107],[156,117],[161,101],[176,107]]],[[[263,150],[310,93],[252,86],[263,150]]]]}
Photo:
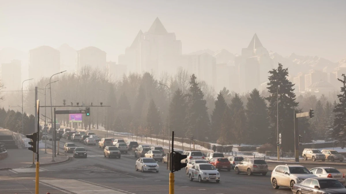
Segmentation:
{"type": "MultiPolygon", "coordinates": [[[[30,167],[33,165],[33,152],[25,149],[9,149],[7,150],[8,157],[0,161],[1,168],[20,168],[30,167]]],[[[56,155],[55,162],[52,162],[52,150],[47,148],[47,153],[44,153],[44,148],[39,149],[40,166],[58,164],[69,161],[69,157],[65,154],[56,155]]],[[[36,164],[36,159],[35,159],[36,164]]]]}

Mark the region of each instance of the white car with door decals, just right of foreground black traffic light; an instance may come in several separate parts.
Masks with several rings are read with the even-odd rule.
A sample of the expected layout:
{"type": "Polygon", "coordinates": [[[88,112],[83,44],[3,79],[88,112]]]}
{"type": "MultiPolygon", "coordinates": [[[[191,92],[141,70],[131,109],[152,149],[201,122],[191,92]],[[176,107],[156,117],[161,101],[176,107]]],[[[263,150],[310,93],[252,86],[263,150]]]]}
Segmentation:
{"type": "Polygon", "coordinates": [[[194,164],[189,168],[189,180],[193,181],[198,179],[199,182],[202,181],[216,181],[220,182],[220,173],[211,164],[194,164]]]}

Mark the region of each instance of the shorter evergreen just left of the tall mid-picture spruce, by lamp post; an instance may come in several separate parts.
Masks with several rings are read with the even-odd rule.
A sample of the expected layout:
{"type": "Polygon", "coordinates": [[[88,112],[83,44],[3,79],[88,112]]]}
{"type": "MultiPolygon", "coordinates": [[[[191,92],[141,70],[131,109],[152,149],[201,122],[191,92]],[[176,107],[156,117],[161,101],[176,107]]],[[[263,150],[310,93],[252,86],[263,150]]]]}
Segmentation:
{"type": "Polygon", "coordinates": [[[178,88],[170,104],[170,129],[176,137],[185,136],[186,101],[182,91],[178,88]]]}

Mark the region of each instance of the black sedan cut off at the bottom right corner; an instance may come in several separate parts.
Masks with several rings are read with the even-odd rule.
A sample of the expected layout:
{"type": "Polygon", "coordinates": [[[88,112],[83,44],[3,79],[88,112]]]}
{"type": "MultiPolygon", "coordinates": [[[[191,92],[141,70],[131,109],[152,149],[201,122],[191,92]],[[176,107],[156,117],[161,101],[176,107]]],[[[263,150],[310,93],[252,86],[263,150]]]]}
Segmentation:
{"type": "Polygon", "coordinates": [[[340,194],[346,193],[346,188],[334,178],[312,177],[299,184],[294,184],[292,192],[297,194],[340,194]]]}

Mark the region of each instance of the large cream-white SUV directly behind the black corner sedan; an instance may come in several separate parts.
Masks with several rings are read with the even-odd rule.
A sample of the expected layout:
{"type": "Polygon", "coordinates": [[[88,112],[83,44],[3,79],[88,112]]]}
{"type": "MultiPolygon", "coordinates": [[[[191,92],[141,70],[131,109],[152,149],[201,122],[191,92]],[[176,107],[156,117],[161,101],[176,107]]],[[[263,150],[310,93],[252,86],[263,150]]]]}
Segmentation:
{"type": "Polygon", "coordinates": [[[290,187],[293,190],[294,184],[300,184],[307,178],[317,177],[301,165],[277,165],[272,171],[271,183],[273,188],[280,186],[290,187]]]}

